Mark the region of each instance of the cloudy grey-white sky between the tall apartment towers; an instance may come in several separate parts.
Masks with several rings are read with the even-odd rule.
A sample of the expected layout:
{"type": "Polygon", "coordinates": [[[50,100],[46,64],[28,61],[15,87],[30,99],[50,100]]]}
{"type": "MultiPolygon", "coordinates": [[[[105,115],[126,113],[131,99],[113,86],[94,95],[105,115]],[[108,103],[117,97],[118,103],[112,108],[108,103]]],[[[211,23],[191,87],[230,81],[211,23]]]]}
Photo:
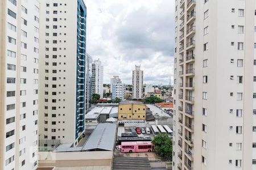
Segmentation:
{"type": "Polygon", "coordinates": [[[173,75],[173,0],[85,0],[87,52],[104,65],[104,83],[119,75],[131,84],[134,65],[144,83],[169,84],[173,75]]]}

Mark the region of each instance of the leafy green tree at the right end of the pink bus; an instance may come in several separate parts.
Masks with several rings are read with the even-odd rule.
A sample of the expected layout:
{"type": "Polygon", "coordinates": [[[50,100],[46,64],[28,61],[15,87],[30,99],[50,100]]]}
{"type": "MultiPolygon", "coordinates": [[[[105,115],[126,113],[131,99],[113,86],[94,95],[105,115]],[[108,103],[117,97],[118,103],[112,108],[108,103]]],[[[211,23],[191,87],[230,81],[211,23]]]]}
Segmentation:
{"type": "Polygon", "coordinates": [[[167,134],[157,135],[152,143],[155,145],[156,154],[166,160],[172,160],[172,139],[167,134]]]}

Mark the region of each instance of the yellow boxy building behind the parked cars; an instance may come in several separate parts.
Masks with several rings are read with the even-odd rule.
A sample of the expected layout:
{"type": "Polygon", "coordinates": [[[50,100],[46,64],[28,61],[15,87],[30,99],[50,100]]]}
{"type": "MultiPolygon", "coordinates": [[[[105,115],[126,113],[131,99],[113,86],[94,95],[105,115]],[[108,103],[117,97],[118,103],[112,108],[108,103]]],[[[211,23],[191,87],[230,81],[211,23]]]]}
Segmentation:
{"type": "Polygon", "coordinates": [[[146,120],[146,105],[134,101],[119,103],[118,120],[146,120]]]}

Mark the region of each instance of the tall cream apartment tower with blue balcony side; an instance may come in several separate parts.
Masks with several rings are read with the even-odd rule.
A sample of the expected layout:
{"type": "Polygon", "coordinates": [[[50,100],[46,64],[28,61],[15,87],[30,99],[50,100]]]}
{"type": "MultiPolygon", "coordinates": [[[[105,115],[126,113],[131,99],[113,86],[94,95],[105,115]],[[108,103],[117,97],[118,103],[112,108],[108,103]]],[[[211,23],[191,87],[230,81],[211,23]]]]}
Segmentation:
{"type": "Polygon", "coordinates": [[[85,131],[86,6],[40,1],[40,149],[77,144],[85,131]]]}

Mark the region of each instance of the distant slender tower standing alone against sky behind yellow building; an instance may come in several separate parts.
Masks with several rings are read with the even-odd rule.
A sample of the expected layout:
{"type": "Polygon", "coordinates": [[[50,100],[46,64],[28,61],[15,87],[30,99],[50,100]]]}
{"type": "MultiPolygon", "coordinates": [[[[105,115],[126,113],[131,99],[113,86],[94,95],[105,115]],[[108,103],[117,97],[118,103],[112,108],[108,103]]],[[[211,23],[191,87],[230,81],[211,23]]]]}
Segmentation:
{"type": "Polygon", "coordinates": [[[142,99],[143,97],[143,70],[141,65],[133,70],[133,99],[142,99]]]}

